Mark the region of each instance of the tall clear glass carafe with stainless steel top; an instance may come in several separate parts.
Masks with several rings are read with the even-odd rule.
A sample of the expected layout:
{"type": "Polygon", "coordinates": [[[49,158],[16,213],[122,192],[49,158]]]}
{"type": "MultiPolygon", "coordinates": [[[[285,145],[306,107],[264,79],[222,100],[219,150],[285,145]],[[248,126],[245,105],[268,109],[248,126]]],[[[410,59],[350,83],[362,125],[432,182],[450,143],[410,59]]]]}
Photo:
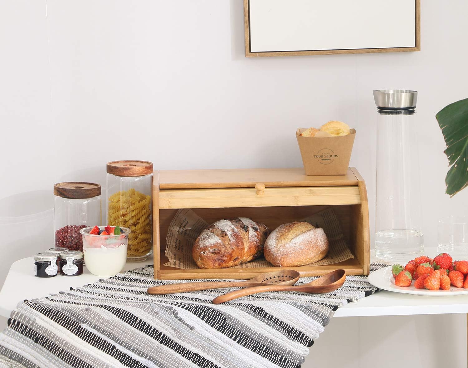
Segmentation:
{"type": "Polygon", "coordinates": [[[379,114],[375,256],[383,261],[403,263],[424,253],[417,92],[379,89],[373,94],[379,114]]]}

